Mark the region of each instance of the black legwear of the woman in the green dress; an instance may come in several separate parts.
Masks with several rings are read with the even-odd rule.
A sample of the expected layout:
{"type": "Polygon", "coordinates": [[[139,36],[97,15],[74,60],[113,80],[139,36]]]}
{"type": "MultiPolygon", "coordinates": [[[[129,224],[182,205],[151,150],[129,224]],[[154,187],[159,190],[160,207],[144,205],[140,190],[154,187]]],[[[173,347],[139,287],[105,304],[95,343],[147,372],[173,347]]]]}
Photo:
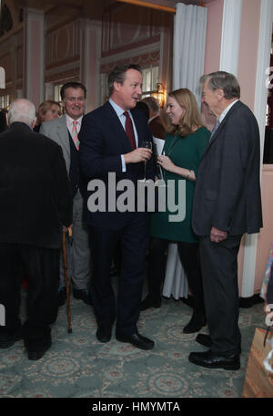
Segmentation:
{"type": "MultiPolygon", "coordinates": [[[[169,240],[150,238],[147,265],[148,295],[157,301],[161,297],[161,288],[165,276],[165,251],[169,240]]],[[[194,309],[204,314],[204,292],[199,265],[197,243],[177,242],[179,258],[187,274],[187,283],[194,296],[194,309]]]]}

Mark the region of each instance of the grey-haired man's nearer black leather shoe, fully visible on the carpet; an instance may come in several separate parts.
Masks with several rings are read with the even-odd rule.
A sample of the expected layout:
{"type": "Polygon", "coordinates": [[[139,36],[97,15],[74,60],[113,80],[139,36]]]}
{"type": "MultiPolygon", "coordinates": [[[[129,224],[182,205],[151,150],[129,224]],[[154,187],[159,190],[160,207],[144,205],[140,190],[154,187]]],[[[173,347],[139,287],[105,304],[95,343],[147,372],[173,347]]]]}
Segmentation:
{"type": "Polygon", "coordinates": [[[229,357],[221,357],[208,349],[206,352],[191,352],[188,360],[197,366],[206,367],[207,369],[239,369],[239,354],[233,354],[229,357]]]}

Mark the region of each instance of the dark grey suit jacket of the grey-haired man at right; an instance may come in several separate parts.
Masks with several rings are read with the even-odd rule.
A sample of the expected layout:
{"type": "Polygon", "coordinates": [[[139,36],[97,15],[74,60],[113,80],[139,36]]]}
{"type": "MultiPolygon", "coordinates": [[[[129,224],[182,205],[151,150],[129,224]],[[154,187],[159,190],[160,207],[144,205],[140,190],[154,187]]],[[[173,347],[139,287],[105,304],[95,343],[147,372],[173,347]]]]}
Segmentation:
{"type": "Polygon", "coordinates": [[[230,235],[262,227],[258,123],[238,101],[227,112],[201,159],[192,225],[200,236],[212,226],[230,235]]]}

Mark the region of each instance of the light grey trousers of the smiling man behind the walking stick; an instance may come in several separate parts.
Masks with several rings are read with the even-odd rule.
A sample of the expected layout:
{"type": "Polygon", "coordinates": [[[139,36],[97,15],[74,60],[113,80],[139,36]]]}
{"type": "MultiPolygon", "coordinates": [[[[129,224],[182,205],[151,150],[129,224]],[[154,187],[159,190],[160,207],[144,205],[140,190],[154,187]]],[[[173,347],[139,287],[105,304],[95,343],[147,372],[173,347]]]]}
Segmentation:
{"type": "MultiPolygon", "coordinates": [[[[68,277],[76,289],[86,289],[90,281],[90,244],[88,227],[83,222],[84,200],[76,192],[73,200],[72,242],[66,235],[68,277]]],[[[60,262],[60,288],[66,286],[64,260],[60,262]]]]}

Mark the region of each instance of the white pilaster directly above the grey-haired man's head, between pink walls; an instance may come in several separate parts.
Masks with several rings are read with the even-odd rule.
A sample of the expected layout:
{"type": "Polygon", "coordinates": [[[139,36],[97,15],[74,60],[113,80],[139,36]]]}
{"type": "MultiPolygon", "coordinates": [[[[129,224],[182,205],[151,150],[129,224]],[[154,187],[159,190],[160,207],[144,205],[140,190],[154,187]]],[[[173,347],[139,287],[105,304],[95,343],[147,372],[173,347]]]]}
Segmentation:
{"type": "Polygon", "coordinates": [[[225,0],[221,37],[220,70],[237,76],[242,0],[225,0]]]}

